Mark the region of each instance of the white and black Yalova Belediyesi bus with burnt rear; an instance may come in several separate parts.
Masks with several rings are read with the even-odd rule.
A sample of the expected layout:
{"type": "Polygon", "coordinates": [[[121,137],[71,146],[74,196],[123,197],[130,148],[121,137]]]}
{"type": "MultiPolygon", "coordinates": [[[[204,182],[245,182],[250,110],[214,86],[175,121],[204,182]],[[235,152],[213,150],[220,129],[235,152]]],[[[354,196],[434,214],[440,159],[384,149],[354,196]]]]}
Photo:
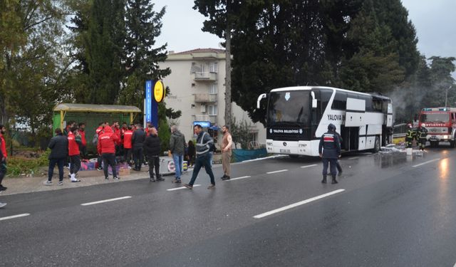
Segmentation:
{"type": "Polygon", "coordinates": [[[372,150],[391,142],[393,106],[383,95],[331,87],[277,88],[267,98],[266,150],[271,154],[318,156],[328,125],[341,134],[342,152],[372,150]]]}

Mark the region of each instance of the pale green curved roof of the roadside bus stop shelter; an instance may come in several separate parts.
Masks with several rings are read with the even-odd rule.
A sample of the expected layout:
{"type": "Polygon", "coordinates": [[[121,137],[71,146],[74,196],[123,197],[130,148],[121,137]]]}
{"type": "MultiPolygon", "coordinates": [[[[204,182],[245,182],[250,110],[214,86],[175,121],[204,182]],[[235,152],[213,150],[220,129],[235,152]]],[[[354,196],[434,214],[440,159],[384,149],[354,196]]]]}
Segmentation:
{"type": "Polygon", "coordinates": [[[73,111],[73,112],[142,112],[139,108],[133,105],[94,105],[94,104],[66,104],[61,103],[56,105],[54,111],[73,111]]]}

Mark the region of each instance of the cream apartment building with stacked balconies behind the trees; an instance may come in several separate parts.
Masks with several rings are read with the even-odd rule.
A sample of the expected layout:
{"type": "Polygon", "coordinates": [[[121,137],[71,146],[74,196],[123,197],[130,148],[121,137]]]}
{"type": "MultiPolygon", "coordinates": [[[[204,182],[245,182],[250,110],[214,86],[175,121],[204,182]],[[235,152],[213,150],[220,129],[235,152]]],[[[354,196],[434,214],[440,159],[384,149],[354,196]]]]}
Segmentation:
{"type": "MultiPolygon", "coordinates": [[[[199,48],[174,53],[170,51],[160,68],[170,68],[171,74],[163,79],[171,95],[165,98],[167,108],[181,110],[177,119],[180,131],[187,140],[193,136],[193,125],[202,124],[204,129],[222,142],[222,132],[217,128],[225,124],[225,51],[223,49],[199,48]]],[[[232,103],[232,116],[237,122],[246,120],[251,125],[252,146],[264,145],[266,130],[261,123],[253,123],[247,112],[232,103]]],[[[240,147],[239,147],[240,148],[240,147]]]]}

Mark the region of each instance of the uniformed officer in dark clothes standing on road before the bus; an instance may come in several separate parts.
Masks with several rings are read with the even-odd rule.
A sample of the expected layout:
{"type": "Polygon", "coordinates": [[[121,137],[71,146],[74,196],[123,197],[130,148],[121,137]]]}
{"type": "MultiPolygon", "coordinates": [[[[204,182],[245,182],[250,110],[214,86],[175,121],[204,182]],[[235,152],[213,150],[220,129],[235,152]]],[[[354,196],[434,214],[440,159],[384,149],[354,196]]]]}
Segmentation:
{"type": "Polygon", "coordinates": [[[331,184],[337,184],[336,164],[337,159],[341,157],[341,142],[339,141],[338,135],[336,135],[336,126],[332,123],[328,125],[328,132],[321,135],[320,144],[318,145],[318,154],[323,158],[323,180],[321,180],[321,182],[326,184],[329,163],[331,164],[331,176],[333,177],[331,184]]]}

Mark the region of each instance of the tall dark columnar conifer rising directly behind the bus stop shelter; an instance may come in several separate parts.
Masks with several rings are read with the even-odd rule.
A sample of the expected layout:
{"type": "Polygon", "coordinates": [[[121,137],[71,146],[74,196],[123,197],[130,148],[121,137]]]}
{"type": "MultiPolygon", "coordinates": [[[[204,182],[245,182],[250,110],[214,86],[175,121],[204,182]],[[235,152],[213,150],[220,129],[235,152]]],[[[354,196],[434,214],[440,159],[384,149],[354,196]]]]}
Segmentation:
{"type": "Polygon", "coordinates": [[[93,1],[83,46],[88,66],[83,103],[115,103],[125,77],[125,0],[93,1]]]}

